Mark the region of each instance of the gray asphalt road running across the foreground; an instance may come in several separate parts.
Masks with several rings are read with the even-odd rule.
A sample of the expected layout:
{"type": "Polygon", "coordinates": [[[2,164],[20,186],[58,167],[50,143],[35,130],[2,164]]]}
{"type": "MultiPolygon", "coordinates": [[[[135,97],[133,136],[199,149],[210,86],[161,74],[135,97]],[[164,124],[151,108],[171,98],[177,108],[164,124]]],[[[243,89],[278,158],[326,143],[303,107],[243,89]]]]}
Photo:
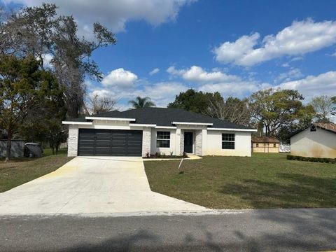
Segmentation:
{"type": "Polygon", "coordinates": [[[336,209],[206,216],[1,216],[0,251],[322,251],[336,209]]]}

